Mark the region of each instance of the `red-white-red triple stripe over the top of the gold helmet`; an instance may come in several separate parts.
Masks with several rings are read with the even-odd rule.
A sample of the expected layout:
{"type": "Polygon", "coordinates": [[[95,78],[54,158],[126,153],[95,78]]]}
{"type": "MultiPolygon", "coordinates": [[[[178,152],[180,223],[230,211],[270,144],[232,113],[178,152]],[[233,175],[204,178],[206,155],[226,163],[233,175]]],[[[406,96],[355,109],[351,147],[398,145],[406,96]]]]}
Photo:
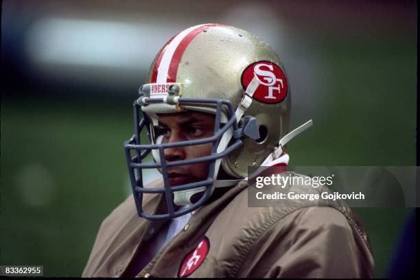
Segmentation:
{"type": "Polygon", "coordinates": [[[180,60],[189,43],[209,27],[220,26],[215,23],[196,25],[179,32],[163,46],[156,58],[152,71],[152,83],[175,82],[180,60]]]}

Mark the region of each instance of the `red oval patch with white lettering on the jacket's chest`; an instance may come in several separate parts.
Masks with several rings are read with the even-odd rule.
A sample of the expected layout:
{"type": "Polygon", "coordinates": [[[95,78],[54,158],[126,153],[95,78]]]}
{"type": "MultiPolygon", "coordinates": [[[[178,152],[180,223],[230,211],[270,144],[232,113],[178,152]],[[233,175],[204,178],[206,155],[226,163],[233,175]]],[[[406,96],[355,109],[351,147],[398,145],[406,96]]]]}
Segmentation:
{"type": "Polygon", "coordinates": [[[197,248],[191,251],[183,259],[181,266],[178,271],[178,277],[188,277],[191,275],[205,260],[207,253],[209,253],[210,242],[207,237],[202,237],[202,240],[198,243],[197,248]]]}

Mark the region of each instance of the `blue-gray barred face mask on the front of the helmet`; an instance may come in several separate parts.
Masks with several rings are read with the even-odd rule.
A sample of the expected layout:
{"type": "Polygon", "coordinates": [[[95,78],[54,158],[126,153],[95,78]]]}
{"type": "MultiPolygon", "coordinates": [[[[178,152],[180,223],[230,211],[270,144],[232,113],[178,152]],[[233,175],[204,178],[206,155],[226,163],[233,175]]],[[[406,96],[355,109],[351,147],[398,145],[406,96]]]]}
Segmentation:
{"type": "MultiPolygon", "coordinates": [[[[135,204],[137,207],[137,213],[140,217],[149,219],[149,220],[165,220],[170,218],[176,218],[185,213],[189,213],[198,209],[198,207],[205,204],[205,202],[210,198],[215,187],[215,175],[216,174],[216,161],[220,161],[225,156],[229,155],[233,150],[239,148],[242,145],[242,137],[250,136],[259,137],[257,130],[257,125],[255,123],[255,118],[248,118],[248,121],[240,122],[238,125],[233,111],[233,106],[228,100],[198,100],[191,98],[179,98],[177,104],[183,106],[183,104],[213,104],[215,105],[215,126],[214,133],[212,137],[206,137],[202,139],[195,139],[191,141],[181,141],[175,143],[159,143],[159,140],[156,143],[153,143],[152,140],[152,124],[147,115],[141,110],[142,102],[148,102],[148,104],[162,104],[168,103],[167,100],[163,98],[148,98],[143,99],[143,96],[139,98],[134,104],[134,113],[135,113],[135,135],[132,138],[124,143],[124,150],[126,151],[126,159],[128,164],[128,173],[130,175],[130,183],[132,185],[132,191],[135,198],[135,204]],[[166,102],[165,102],[166,101],[166,102]],[[222,115],[222,106],[225,106],[228,111],[228,121],[224,126],[221,125],[221,115],[222,115]],[[139,120],[139,113],[143,114],[143,118],[139,120]],[[141,144],[140,135],[141,131],[147,129],[149,135],[149,141],[152,144],[141,144]],[[230,141],[229,147],[218,151],[220,141],[225,135],[227,130],[233,130],[232,140],[230,141]],[[256,131],[255,131],[256,130],[256,131]],[[164,150],[167,148],[175,147],[185,147],[188,145],[199,145],[211,143],[211,154],[208,156],[202,156],[196,159],[187,159],[180,161],[167,161],[165,160],[164,150]],[[152,151],[154,157],[154,163],[143,163],[145,156],[152,151]],[[183,185],[170,186],[169,178],[167,175],[167,169],[169,167],[180,166],[180,165],[191,165],[196,163],[209,163],[209,175],[207,179],[200,180],[194,183],[187,183],[183,185]],[[159,169],[163,175],[163,187],[149,189],[143,186],[143,176],[142,171],[148,168],[159,169]],[[191,197],[195,194],[202,193],[202,196],[198,201],[191,202],[191,197]],[[167,213],[152,215],[150,213],[145,213],[143,211],[143,194],[164,194],[167,213]],[[185,203],[189,202],[189,203],[185,203]],[[189,204],[188,207],[183,209],[176,210],[175,205],[184,205],[189,204]]],[[[170,103],[170,102],[169,102],[170,103]]],[[[159,139],[159,137],[156,137],[159,139]]],[[[219,165],[220,166],[220,165],[219,165]]]]}

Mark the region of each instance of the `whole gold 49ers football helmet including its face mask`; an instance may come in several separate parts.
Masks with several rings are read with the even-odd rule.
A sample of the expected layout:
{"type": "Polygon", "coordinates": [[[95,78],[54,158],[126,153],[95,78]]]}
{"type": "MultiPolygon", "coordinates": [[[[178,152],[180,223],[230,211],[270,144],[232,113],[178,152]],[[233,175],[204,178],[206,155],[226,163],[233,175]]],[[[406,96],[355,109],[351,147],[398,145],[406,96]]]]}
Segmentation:
{"type": "MultiPolygon", "coordinates": [[[[135,134],[124,143],[130,183],[140,217],[176,218],[198,209],[215,187],[235,185],[259,166],[283,152],[279,139],[290,119],[290,86],[275,51],[257,36],[236,27],[202,24],[172,37],[159,51],[146,83],[134,102],[135,134]],[[212,137],[162,143],[158,114],[196,110],[215,115],[212,137]],[[141,143],[141,131],[150,143],[141,143]],[[212,143],[211,154],[197,159],[166,161],[164,150],[212,143]],[[154,163],[144,163],[150,152],[154,163]],[[167,169],[209,162],[206,180],[170,186],[167,169]],[[143,170],[158,169],[162,188],[145,188],[143,170]],[[220,180],[220,170],[235,180],[220,180]],[[167,213],[144,213],[143,194],[164,194],[167,213]],[[198,195],[199,199],[192,199],[198,195]],[[176,206],[188,205],[177,209],[176,206]]],[[[283,143],[284,144],[284,143],[283,143]]]]}

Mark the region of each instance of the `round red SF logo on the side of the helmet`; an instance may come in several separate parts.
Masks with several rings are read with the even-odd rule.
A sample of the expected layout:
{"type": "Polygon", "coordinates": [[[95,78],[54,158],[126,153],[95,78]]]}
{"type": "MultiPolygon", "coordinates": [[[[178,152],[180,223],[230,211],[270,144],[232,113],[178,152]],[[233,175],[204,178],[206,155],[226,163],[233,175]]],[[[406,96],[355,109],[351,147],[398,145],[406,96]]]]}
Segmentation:
{"type": "Polygon", "coordinates": [[[288,82],[279,66],[269,61],[258,61],[248,65],[241,77],[245,90],[254,77],[259,82],[253,95],[255,100],[275,104],[285,99],[288,94],[288,82]]]}

